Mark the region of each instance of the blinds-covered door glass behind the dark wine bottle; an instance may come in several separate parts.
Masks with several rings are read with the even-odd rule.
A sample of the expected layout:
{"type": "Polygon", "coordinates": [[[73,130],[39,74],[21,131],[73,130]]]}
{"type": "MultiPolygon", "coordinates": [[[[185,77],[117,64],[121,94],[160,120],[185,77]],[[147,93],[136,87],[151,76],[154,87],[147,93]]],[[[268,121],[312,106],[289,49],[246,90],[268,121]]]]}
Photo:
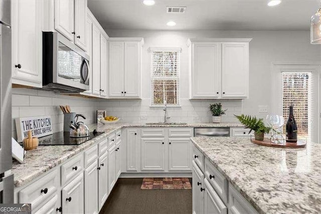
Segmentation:
{"type": "MultiPolygon", "coordinates": [[[[297,134],[310,135],[312,113],[312,75],[311,72],[282,72],[282,114],[286,123],[289,106],[293,105],[293,115],[297,134]]],[[[283,127],[285,129],[285,126],[283,127]]]]}

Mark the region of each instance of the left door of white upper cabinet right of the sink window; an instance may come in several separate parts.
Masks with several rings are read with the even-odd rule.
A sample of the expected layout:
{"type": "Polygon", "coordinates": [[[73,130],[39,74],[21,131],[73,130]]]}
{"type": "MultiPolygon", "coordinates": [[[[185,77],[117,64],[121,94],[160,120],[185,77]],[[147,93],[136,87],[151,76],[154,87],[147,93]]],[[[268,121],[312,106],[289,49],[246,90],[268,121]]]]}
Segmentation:
{"type": "Polygon", "coordinates": [[[219,98],[221,94],[220,43],[192,44],[191,98],[219,98]]]}

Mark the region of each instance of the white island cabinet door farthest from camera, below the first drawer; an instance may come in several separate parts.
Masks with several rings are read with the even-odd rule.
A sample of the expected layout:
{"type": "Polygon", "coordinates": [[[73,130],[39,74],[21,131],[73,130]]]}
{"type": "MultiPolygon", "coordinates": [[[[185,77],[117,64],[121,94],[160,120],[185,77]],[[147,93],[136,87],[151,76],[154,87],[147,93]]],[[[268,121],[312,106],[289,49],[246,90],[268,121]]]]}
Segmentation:
{"type": "Polygon", "coordinates": [[[193,170],[192,170],[192,198],[193,198],[193,214],[204,213],[204,174],[197,166],[195,161],[193,161],[193,170]],[[202,191],[201,191],[202,188],[202,191]]]}

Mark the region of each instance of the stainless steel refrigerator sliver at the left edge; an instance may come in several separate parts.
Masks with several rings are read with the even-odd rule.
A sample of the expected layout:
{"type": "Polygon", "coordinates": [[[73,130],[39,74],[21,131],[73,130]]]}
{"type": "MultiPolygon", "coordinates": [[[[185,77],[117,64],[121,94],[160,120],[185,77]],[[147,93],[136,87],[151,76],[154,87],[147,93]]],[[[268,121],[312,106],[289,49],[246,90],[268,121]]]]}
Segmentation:
{"type": "Polygon", "coordinates": [[[11,152],[11,1],[0,0],[0,203],[14,202],[11,152]]]}

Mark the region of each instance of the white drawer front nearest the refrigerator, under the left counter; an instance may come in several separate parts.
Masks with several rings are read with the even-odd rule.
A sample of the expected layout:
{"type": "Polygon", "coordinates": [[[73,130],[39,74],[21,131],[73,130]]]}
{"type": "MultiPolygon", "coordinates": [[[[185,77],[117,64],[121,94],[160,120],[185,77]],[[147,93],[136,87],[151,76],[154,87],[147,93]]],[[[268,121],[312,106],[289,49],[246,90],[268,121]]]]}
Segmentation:
{"type": "Polygon", "coordinates": [[[32,209],[57,194],[60,172],[55,169],[19,192],[19,203],[31,203],[32,209]]]}

